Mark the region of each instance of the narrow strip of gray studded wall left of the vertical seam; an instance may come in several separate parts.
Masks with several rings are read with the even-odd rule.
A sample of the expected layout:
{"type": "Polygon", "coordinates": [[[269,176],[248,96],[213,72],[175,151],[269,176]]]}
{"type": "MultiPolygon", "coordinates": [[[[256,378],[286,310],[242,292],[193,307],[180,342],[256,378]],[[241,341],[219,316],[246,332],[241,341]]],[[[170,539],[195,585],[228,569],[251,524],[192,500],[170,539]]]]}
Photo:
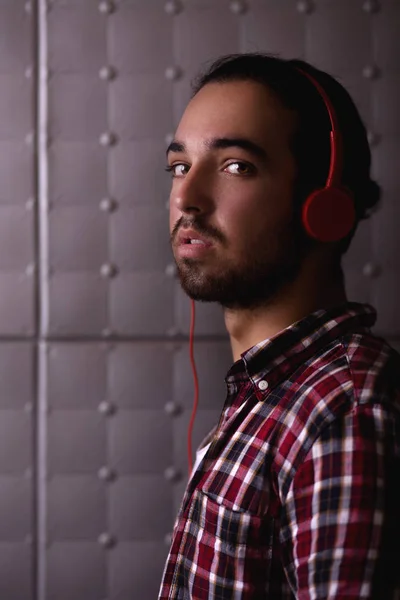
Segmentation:
{"type": "Polygon", "coordinates": [[[0,2],[0,597],[35,594],[34,7],[0,2]]]}

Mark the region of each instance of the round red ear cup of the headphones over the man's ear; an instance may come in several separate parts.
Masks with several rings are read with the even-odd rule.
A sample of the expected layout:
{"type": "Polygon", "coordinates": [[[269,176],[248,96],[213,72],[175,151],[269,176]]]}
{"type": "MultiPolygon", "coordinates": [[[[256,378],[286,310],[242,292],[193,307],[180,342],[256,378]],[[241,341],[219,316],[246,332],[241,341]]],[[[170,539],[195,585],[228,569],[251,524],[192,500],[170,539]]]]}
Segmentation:
{"type": "Polygon", "coordinates": [[[356,222],[351,193],[339,187],[312,192],[302,207],[302,223],[307,234],[319,242],[339,242],[356,222]]]}

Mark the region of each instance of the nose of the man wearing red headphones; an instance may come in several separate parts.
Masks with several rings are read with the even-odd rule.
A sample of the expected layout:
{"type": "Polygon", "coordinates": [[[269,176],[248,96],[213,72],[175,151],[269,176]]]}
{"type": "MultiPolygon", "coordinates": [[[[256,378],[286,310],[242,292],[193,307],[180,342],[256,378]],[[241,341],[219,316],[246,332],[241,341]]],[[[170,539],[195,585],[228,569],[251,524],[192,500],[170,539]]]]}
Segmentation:
{"type": "Polygon", "coordinates": [[[213,208],[212,182],[201,170],[190,169],[171,193],[175,207],[184,214],[205,214],[213,208]]]}

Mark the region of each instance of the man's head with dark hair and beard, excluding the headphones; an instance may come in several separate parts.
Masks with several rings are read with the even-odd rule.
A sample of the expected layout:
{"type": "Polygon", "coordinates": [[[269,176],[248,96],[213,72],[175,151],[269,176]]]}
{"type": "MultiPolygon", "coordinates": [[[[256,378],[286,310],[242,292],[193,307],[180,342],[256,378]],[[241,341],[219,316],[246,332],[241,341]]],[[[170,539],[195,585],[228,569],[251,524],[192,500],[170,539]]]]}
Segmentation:
{"type": "Polygon", "coordinates": [[[302,203],[326,182],[331,126],[324,101],[297,67],[335,106],[342,183],[354,195],[357,220],[379,199],[365,128],[340,84],[302,61],[220,59],[195,84],[168,152],[171,240],[182,286],[194,299],[230,308],[267,304],[315,253],[326,257],[332,277],[340,273],[354,230],[342,242],[320,244],[301,225],[302,203]],[[195,233],[209,245],[187,244],[195,233]]]}

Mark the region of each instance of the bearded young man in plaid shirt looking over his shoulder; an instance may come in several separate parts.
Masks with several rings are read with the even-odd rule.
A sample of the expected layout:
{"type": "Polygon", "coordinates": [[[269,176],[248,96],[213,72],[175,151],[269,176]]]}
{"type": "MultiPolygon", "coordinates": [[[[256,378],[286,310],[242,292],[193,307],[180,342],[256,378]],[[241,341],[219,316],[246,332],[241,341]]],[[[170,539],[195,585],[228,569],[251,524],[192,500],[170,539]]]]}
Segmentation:
{"type": "Polygon", "coordinates": [[[396,598],[400,357],[372,335],[374,309],[348,302],[340,264],[379,200],[353,102],[305,62],[224,57],[197,83],[168,161],[180,281],[224,307],[234,364],[159,598],[396,598]],[[337,192],[334,240],[304,208],[332,152],[351,194],[343,208],[337,192]]]}

